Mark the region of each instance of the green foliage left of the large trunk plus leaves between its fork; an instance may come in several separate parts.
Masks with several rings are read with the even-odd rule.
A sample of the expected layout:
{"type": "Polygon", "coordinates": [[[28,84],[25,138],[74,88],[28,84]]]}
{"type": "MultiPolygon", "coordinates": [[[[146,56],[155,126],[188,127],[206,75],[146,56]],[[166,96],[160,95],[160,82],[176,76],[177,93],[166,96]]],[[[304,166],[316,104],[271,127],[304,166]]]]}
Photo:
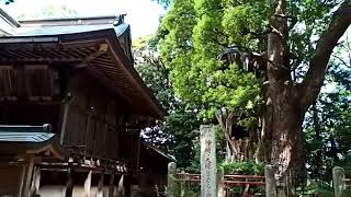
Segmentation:
{"type": "MultiPolygon", "coordinates": [[[[267,0],[174,0],[161,27],[162,60],[170,66],[178,96],[195,103],[201,117],[212,119],[218,108],[258,116],[262,103],[261,81],[237,65],[226,65],[220,55],[230,46],[241,51],[267,50],[269,20],[274,7],[267,0]]],[[[313,55],[315,39],[330,18],[335,1],[290,1],[290,48],[295,58],[292,74],[298,82],[313,55]],[[296,18],[295,18],[296,16],[296,18]],[[295,22],[296,23],[295,23],[295,22]]]]}

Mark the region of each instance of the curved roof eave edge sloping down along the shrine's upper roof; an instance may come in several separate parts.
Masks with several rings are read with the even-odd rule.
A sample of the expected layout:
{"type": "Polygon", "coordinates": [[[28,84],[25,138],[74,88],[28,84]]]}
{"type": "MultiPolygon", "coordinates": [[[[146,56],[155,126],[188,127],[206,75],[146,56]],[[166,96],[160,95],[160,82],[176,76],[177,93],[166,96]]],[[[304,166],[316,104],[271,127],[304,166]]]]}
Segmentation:
{"type": "MultiPolygon", "coordinates": [[[[128,30],[128,25],[121,28],[121,35],[128,30]]],[[[9,36],[1,37],[0,44],[5,46],[11,44],[21,44],[21,43],[53,43],[55,47],[60,47],[63,45],[75,45],[77,43],[88,43],[88,42],[101,42],[104,40],[111,48],[111,54],[114,56],[118,65],[122,66],[124,74],[127,74],[131,82],[135,88],[141,93],[141,95],[148,101],[148,104],[152,106],[152,112],[149,114],[150,117],[162,119],[163,112],[160,104],[157,102],[152,92],[146,86],[140,76],[134,69],[133,61],[124,54],[124,50],[118,42],[118,35],[114,27],[90,31],[90,32],[79,32],[70,34],[48,34],[48,35],[26,35],[26,36],[9,36]]]]}

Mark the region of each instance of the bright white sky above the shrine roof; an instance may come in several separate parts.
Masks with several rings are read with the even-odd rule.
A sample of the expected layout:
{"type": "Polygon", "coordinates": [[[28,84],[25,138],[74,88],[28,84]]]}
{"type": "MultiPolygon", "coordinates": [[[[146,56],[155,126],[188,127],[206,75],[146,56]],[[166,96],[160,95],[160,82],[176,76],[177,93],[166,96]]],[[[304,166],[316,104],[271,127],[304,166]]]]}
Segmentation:
{"type": "Polygon", "coordinates": [[[23,14],[37,15],[48,7],[67,7],[81,16],[126,13],[133,39],[154,33],[165,13],[163,8],[151,0],[14,0],[7,5],[0,0],[0,8],[14,19],[23,14]]]}

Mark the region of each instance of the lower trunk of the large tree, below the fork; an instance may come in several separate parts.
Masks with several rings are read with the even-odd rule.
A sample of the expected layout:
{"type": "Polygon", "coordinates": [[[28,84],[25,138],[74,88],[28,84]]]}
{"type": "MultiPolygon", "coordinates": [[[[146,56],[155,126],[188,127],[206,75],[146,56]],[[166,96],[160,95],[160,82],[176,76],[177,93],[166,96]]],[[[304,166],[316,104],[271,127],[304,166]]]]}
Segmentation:
{"type": "Polygon", "coordinates": [[[288,170],[301,171],[304,165],[304,139],[302,124],[305,112],[296,100],[274,95],[271,162],[278,167],[278,178],[288,170]]]}

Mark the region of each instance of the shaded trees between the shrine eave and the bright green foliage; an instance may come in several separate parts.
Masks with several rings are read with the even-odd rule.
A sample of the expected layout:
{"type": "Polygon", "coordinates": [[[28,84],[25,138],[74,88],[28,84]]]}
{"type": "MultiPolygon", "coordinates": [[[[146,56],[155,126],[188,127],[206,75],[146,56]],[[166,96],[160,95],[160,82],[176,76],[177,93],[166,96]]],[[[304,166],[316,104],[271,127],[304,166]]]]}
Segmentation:
{"type": "MultiPolygon", "coordinates": [[[[143,137],[146,141],[159,147],[177,159],[180,167],[196,169],[192,165],[196,157],[196,138],[200,120],[190,107],[179,100],[169,81],[170,69],[160,59],[156,44],[162,32],[148,35],[133,43],[136,69],[154,91],[155,96],[167,113],[163,121],[157,121],[147,128],[143,137]]],[[[197,162],[199,163],[199,162],[197,162]]]]}

